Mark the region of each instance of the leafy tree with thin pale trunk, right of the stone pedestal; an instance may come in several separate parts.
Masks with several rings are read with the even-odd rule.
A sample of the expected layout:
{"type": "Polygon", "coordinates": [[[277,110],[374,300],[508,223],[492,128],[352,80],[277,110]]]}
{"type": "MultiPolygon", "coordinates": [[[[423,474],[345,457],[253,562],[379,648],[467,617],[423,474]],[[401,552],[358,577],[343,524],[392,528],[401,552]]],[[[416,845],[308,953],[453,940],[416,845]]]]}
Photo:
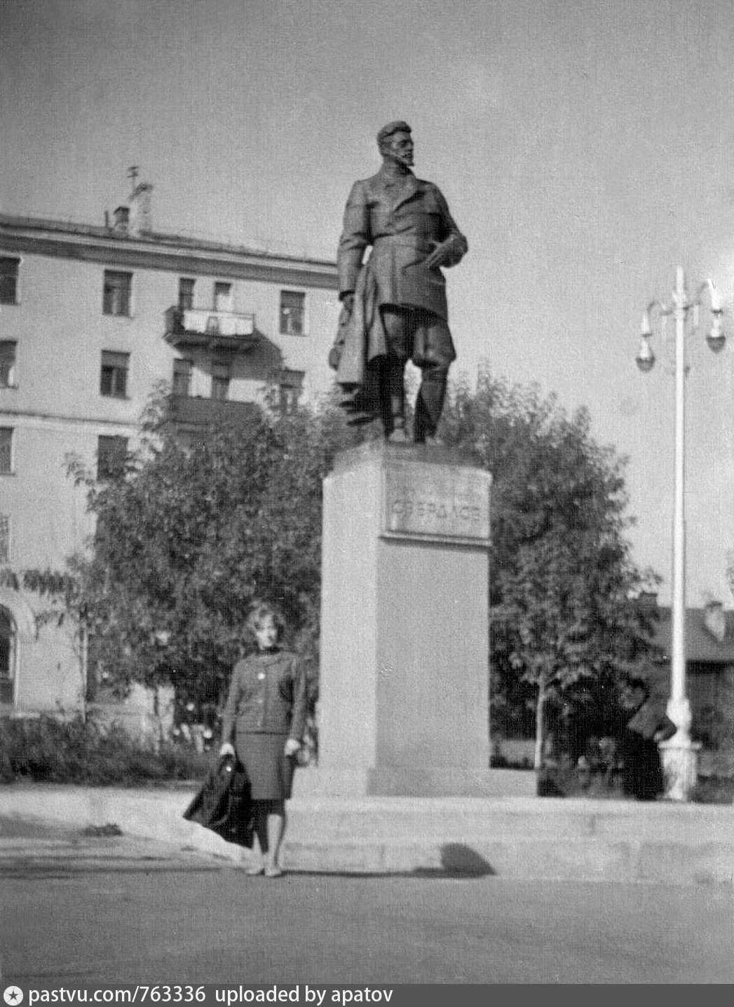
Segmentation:
{"type": "Polygon", "coordinates": [[[492,696],[530,687],[515,694],[535,703],[539,766],[552,690],[642,668],[649,626],[634,596],[654,577],[630,559],[624,460],[593,441],[585,410],[569,418],[555,397],[486,374],[475,393],[456,389],[444,432],[493,475],[492,696]]]}

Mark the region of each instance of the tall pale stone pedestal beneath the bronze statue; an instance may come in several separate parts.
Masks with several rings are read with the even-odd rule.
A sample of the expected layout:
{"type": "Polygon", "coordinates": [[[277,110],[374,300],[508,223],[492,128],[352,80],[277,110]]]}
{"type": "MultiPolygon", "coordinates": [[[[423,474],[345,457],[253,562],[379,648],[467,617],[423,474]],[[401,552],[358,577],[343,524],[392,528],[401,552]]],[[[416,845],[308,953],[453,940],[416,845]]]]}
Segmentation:
{"type": "Polygon", "coordinates": [[[384,442],[324,480],[321,793],[486,793],[489,485],[445,448],[384,442]]]}

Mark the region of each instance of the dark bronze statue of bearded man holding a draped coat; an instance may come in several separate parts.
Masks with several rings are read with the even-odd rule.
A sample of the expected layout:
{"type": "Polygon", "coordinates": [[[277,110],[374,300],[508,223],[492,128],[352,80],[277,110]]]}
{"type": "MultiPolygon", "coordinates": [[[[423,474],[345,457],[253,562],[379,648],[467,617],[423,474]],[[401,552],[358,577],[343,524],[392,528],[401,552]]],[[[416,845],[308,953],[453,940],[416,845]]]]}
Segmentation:
{"type": "Polygon", "coordinates": [[[411,359],[422,372],[413,440],[430,443],[456,358],[441,268],[455,266],[468,246],[438,187],[411,171],[408,123],[384,126],[378,146],[383,166],[354,182],[344,210],[337,253],[342,311],[330,363],[351,422],[379,416],[388,440],[402,443],[411,359]]]}

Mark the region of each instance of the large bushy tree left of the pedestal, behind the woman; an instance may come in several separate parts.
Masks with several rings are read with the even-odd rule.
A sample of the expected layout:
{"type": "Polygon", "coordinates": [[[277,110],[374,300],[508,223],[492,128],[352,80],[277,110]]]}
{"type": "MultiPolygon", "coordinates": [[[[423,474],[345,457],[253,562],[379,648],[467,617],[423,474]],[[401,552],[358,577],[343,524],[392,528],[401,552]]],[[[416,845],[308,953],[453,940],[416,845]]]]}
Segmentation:
{"type": "Polygon", "coordinates": [[[120,692],[172,681],[216,698],[256,598],[284,609],[314,662],[321,480],[355,435],[328,405],[256,410],[247,428],[217,425],[190,447],[160,421],[154,403],[119,478],[99,483],[70,460],[94,540],[63,573],[25,571],[24,585],[87,628],[94,663],[120,692]]]}

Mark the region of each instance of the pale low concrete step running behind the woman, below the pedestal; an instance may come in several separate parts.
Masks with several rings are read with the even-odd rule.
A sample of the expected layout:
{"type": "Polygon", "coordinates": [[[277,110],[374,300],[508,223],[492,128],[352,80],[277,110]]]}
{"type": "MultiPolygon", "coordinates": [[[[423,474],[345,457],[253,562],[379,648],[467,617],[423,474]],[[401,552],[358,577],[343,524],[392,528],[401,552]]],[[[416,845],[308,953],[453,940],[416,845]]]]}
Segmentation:
{"type": "MultiPolygon", "coordinates": [[[[162,842],[171,855],[241,861],[239,847],[181,817],[194,790],[10,785],[0,788],[0,818],[6,827],[33,821],[78,832],[116,825],[127,841],[162,842]]],[[[289,802],[288,816],[283,859],[291,871],[734,881],[730,805],[314,795],[289,802]]]]}

